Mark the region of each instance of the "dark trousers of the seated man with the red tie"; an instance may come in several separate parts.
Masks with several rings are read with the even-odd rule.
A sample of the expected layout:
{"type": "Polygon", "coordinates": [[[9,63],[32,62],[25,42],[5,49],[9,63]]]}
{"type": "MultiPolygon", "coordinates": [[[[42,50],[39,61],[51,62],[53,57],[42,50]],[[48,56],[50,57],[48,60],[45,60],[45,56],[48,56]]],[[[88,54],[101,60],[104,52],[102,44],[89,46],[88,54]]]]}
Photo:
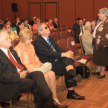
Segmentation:
{"type": "Polygon", "coordinates": [[[21,78],[20,93],[25,92],[33,93],[36,105],[52,94],[43,73],[38,71],[27,74],[26,78],[21,78]]]}

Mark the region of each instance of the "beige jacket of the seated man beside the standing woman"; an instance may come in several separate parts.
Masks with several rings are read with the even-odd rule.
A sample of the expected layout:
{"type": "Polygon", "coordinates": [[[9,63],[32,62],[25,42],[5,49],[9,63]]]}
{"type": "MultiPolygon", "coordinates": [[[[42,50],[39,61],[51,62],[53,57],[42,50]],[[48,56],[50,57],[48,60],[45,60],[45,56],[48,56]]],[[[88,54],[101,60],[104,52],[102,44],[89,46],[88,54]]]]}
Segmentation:
{"type": "Polygon", "coordinates": [[[82,34],[82,44],[86,55],[93,54],[92,34],[87,30],[82,34]]]}

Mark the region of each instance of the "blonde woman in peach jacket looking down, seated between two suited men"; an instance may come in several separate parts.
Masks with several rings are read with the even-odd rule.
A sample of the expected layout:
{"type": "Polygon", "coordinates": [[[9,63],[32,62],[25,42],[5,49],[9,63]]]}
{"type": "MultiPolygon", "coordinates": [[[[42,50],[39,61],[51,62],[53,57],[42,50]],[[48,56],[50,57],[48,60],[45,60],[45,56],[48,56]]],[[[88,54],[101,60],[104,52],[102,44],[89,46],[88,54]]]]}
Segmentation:
{"type": "MultiPolygon", "coordinates": [[[[15,51],[18,53],[21,62],[27,67],[29,72],[33,71],[33,68],[39,68],[43,64],[35,54],[35,50],[32,42],[33,32],[29,29],[23,29],[19,33],[19,44],[15,47],[15,51]]],[[[46,82],[53,93],[53,99],[60,105],[56,95],[56,81],[53,71],[47,71],[44,73],[46,82]]]]}

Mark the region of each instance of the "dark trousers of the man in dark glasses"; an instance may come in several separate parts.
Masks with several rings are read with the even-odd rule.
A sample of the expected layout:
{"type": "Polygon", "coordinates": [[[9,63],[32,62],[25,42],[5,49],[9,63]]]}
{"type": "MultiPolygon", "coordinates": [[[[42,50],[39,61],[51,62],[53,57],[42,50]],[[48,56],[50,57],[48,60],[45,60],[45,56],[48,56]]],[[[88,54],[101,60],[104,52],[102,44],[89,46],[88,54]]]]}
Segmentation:
{"type": "Polygon", "coordinates": [[[70,58],[61,58],[58,59],[57,62],[52,64],[52,70],[55,72],[56,75],[64,75],[65,76],[65,84],[67,88],[77,86],[76,81],[68,82],[68,72],[66,71],[66,67],[68,65],[73,65],[73,60],[70,58]]]}

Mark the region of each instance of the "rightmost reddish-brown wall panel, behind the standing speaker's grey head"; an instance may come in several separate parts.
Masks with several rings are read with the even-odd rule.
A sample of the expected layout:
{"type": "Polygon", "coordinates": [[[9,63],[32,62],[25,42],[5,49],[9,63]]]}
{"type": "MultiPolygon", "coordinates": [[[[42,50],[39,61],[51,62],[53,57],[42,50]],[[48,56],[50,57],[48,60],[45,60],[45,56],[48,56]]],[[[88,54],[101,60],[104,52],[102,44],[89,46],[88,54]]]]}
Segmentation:
{"type": "Polygon", "coordinates": [[[108,0],[94,0],[94,18],[98,16],[99,9],[108,8],[108,0]]]}

